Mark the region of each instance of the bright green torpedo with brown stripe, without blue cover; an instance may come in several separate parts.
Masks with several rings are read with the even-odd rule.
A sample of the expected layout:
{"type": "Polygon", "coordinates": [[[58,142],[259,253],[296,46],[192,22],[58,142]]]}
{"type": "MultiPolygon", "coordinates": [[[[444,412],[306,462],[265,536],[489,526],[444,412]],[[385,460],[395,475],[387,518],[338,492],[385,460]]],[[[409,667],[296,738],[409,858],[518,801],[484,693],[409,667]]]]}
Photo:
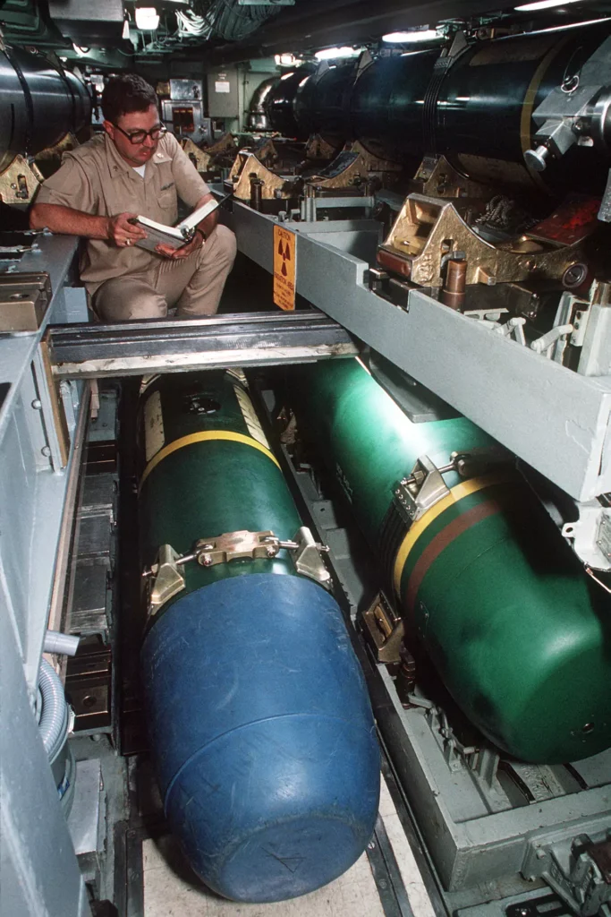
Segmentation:
{"type": "MultiPolygon", "coordinates": [[[[416,458],[491,442],[465,418],[412,424],[355,360],[300,370],[295,407],[378,552],[416,458]]],[[[558,763],[611,746],[608,595],[517,472],[424,527],[395,598],[455,702],[509,754],[558,763]]]]}

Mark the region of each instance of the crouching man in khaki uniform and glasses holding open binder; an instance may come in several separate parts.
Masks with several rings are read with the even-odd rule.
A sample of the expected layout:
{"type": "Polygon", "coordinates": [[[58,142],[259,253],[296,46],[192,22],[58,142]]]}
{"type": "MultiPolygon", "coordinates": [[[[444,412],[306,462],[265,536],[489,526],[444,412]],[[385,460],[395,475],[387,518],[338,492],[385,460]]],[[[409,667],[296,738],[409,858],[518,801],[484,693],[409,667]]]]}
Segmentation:
{"type": "Polygon", "coordinates": [[[143,215],[173,226],[179,197],[194,210],[213,195],[160,123],[145,80],[113,77],[102,110],[104,134],[64,153],[38,192],[30,226],[87,238],[81,277],[103,321],[164,318],[172,307],[183,318],[213,315],[235,260],[235,236],[217,225],[218,211],[180,249],[139,248],[146,233],[129,222],[143,215]]]}

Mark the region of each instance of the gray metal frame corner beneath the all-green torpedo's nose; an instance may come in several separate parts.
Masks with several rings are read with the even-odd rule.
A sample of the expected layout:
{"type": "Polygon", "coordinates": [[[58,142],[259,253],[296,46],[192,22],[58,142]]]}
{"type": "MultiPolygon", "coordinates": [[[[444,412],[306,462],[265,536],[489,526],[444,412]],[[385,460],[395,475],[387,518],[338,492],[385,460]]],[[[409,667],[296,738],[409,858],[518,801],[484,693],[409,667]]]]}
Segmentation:
{"type": "MultiPolygon", "coordinates": [[[[426,711],[403,710],[386,668],[378,668],[407,739],[404,755],[400,763],[394,758],[395,765],[446,889],[474,889],[492,879],[516,875],[522,868],[527,871],[539,849],[548,856],[548,847],[562,839],[606,832],[611,823],[610,751],[573,764],[586,782],[594,784],[592,789],[518,808],[499,801],[506,808],[492,811],[473,772],[448,766],[426,711]]],[[[545,856],[538,862],[539,875],[545,856]]]]}

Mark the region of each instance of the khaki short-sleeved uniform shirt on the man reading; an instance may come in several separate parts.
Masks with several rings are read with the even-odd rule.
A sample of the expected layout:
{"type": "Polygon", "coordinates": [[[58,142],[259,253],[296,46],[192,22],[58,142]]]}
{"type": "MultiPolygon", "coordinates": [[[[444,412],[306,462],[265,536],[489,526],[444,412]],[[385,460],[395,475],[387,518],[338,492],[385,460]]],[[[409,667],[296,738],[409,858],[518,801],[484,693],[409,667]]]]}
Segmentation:
{"type": "MultiPolygon", "coordinates": [[[[144,179],[119,155],[107,134],[64,153],[61,166],[42,184],[37,204],[62,204],[95,216],[132,213],[173,226],[178,198],[191,207],[210,192],[173,134],[159,139],[144,179]]],[[[111,241],[88,239],[81,277],[89,293],[111,277],[156,268],[161,256],[137,246],[119,249],[111,241]]]]}

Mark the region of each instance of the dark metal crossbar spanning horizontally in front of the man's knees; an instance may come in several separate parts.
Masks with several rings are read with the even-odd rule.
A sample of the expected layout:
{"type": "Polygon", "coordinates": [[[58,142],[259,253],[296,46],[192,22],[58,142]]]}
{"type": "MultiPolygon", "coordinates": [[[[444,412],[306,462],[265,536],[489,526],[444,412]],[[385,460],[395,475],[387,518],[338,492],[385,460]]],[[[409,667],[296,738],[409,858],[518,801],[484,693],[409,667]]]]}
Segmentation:
{"type": "Polygon", "coordinates": [[[273,366],[357,353],[342,326],[311,309],[49,328],[59,379],[273,366]]]}

